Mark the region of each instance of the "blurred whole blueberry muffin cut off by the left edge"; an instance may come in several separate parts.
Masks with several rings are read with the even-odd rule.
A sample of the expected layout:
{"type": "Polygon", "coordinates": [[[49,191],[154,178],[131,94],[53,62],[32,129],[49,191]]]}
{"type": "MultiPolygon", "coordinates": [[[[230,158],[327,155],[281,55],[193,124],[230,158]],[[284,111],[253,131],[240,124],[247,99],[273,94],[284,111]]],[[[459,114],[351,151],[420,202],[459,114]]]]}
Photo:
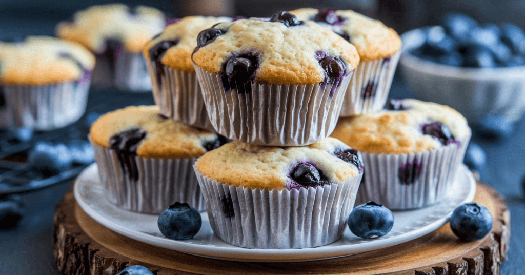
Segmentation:
{"type": "Polygon", "coordinates": [[[0,90],[6,125],[61,128],[86,111],[95,56],[84,47],[47,36],[0,45],[0,90]]]}

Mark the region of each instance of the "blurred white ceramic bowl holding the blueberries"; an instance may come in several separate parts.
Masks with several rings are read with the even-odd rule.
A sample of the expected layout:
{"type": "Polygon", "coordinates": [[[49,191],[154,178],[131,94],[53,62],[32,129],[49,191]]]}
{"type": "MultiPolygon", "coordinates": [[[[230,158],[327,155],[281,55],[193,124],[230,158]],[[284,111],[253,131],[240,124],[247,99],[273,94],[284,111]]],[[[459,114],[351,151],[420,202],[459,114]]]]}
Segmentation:
{"type": "Polygon", "coordinates": [[[409,53],[425,42],[422,29],[403,35],[401,70],[415,97],[448,105],[470,124],[490,114],[511,121],[525,112],[525,66],[509,68],[461,68],[441,65],[409,53]]]}

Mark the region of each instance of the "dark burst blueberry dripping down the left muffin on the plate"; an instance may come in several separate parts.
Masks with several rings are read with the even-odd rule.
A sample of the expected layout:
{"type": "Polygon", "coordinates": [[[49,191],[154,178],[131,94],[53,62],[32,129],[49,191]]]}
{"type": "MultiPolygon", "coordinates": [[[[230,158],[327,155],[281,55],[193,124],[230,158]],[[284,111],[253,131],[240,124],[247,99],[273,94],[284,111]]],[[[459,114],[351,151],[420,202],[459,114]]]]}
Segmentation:
{"type": "Polygon", "coordinates": [[[132,128],[113,135],[109,139],[109,147],[117,152],[120,166],[124,173],[134,181],[139,179],[139,170],[135,156],[140,142],[146,137],[146,132],[140,128],[132,128]]]}

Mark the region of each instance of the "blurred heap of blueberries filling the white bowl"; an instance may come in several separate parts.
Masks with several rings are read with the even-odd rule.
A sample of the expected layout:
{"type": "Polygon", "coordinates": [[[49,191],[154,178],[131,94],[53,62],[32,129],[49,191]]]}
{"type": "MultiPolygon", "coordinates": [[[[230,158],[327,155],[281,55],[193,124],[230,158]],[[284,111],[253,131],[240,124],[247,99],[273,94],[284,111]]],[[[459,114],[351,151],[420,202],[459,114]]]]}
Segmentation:
{"type": "Polygon", "coordinates": [[[479,24],[449,13],[442,26],[423,28],[425,42],[411,53],[439,64],[493,68],[525,66],[525,32],[512,23],[479,24]]]}

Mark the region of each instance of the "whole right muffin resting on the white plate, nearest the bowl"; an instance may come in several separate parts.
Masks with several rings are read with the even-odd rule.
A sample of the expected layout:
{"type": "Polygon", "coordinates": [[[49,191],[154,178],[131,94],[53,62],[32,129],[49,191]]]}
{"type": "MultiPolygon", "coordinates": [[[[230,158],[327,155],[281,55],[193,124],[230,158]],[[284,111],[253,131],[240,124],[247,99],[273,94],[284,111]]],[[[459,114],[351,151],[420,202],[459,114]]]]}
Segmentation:
{"type": "Polygon", "coordinates": [[[456,110],[416,99],[390,100],[386,110],[341,118],[332,137],[360,150],[360,202],[390,209],[421,208],[443,200],[471,136],[456,110]]]}

